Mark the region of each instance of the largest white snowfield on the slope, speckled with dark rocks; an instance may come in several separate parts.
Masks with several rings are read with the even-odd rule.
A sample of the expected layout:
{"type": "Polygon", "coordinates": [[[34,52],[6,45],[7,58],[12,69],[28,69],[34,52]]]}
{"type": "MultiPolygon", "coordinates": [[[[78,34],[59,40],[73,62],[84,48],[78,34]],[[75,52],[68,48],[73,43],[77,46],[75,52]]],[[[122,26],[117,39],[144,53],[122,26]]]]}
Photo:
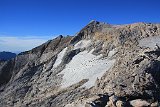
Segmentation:
{"type": "Polygon", "coordinates": [[[94,85],[97,78],[102,77],[102,75],[113,66],[115,62],[114,59],[102,59],[102,55],[95,56],[92,52],[93,50],[90,52],[80,52],[74,56],[66,65],[65,69],[59,73],[64,74],[61,84],[62,88],[78,83],[82,79],[89,79],[84,86],[90,88],[94,85]]]}

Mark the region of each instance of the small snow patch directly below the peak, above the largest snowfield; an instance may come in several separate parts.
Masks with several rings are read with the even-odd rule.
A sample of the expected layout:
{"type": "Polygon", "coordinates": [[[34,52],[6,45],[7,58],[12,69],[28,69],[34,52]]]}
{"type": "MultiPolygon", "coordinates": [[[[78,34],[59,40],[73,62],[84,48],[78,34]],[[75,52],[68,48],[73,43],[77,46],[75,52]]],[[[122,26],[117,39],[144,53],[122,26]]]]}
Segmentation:
{"type": "Polygon", "coordinates": [[[74,49],[84,48],[91,45],[91,40],[81,40],[74,45],[74,49]]]}

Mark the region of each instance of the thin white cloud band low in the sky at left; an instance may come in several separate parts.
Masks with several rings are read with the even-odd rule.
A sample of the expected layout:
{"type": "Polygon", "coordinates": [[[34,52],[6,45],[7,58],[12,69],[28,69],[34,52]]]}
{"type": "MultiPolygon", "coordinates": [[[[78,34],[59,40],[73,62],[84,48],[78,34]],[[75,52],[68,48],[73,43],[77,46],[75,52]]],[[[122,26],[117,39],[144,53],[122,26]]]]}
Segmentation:
{"type": "Polygon", "coordinates": [[[22,52],[30,50],[51,39],[46,36],[0,36],[0,51],[22,52]]]}

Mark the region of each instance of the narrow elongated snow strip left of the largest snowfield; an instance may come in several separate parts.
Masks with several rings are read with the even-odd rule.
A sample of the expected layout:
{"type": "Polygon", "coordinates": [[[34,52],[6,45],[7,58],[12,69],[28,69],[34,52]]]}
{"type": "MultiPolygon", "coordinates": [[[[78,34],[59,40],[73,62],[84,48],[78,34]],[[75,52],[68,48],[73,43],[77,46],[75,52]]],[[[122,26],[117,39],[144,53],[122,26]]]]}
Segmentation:
{"type": "Polygon", "coordinates": [[[67,47],[64,48],[64,49],[57,55],[57,59],[56,59],[54,65],[53,65],[53,68],[56,68],[56,67],[62,62],[62,59],[63,59],[64,54],[66,53],[67,49],[68,49],[67,47]]]}

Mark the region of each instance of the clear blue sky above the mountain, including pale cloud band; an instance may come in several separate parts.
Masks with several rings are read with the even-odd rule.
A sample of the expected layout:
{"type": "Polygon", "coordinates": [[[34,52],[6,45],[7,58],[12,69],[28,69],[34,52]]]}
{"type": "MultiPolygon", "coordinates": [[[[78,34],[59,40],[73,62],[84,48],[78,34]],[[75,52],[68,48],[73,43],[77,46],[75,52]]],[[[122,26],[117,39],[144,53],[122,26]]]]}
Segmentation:
{"type": "Polygon", "coordinates": [[[60,34],[74,35],[90,20],[159,23],[160,0],[0,0],[0,51],[25,51],[60,34]]]}

